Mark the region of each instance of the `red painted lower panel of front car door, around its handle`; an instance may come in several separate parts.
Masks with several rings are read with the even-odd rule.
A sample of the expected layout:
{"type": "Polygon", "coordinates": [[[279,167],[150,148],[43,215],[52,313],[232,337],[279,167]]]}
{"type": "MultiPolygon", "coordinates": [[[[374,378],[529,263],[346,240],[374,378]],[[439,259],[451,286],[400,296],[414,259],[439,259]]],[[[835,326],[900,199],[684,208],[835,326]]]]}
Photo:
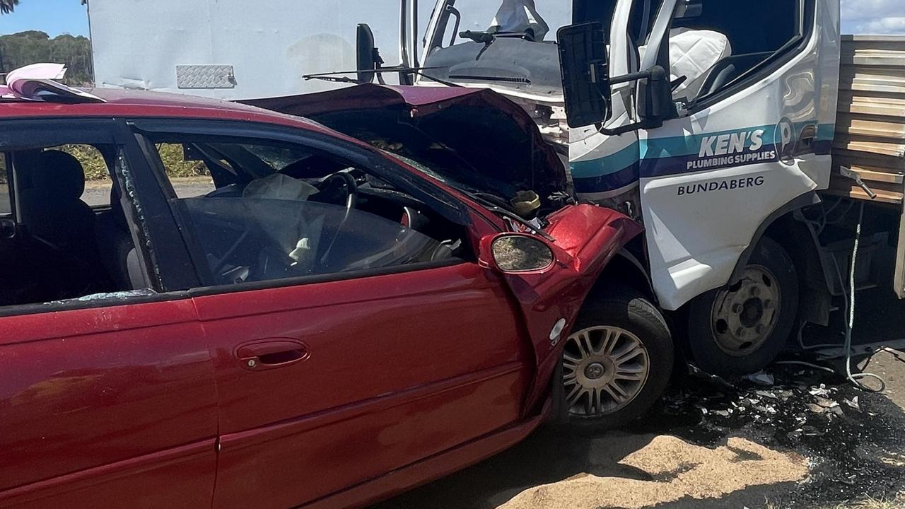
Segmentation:
{"type": "Polygon", "coordinates": [[[499,277],[477,264],[195,303],[220,394],[214,507],[310,502],[522,413],[531,354],[499,277]],[[247,370],[236,347],[261,338],[305,341],[310,357],[247,370]]]}

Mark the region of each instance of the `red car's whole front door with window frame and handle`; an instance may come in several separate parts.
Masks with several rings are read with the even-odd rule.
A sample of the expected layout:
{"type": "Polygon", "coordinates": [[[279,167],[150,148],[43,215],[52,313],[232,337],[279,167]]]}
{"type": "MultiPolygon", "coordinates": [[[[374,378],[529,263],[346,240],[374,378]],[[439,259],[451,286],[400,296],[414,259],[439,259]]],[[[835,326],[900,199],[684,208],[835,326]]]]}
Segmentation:
{"type": "MultiPolygon", "coordinates": [[[[186,146],[200,147],[198,139],[221,153],[235,153],[229,145],[234,143],[273,154],[278,150],[262,147],[279,143],[290,152],[316,146],[364,170],[382,165],[377,169],[384,176],[403,171],[348,142],[302,130],[164,120],[136,122],[136,129],[148,147],[182,145],[185,154],[192,151],[186,146]]],[[[172,177],[178,165],[165,159],[166,154],[157,161],[160,171],[172,177]]],[[[174,209],[186,241],[203,253],[195,257],[202,280],[220,273],[245,274],[242,280],[248,270],[213,271],[226,255],[208,246],[230,235],[254,235],[244,232],[255,228],[279,229],[287,217],[314,205],[256,202],[248,195],[251,185],[243,198],[224,197],[232,184],[211,177],[221,180],[217,189],[194,198],[170,178],[174,209]],[[247,214],[235,212],[246,206],[252,206],[247,214]],[[255,215],[266,219],[243,224],[255,215]]],[[[412,192],[437,201],[423,190],[412,192]]],[[[357,226],[344,240],[334,239],[334,253],[354,255],[359,241],[369,245],[389,231],[386,219],[351,215],[348,224],[357,226]]],[[[291,244],[306,249],[307,237],[296,244],[297,238],[291,244]]],[[[238,243],[225,251],[243,249],[238,243]]],[[[519,419],[533,367],[529,342],[500,279],[473,258],[259,279],[192,291],[211,344],[219,396],[214,507],[304,504],[519,419]]]]}

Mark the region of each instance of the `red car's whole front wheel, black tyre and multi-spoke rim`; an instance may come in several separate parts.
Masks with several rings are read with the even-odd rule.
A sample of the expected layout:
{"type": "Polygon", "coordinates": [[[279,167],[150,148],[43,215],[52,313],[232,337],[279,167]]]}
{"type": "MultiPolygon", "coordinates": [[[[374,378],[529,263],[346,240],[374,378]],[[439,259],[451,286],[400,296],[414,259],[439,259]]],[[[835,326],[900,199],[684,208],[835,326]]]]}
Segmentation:
{"type": "Polygon", "coordinates": [[[670,381],[674,348],[662,314],[642,293],[592,295],[557,368],[560,423],[593,433],[641,417],[670,381]]]}

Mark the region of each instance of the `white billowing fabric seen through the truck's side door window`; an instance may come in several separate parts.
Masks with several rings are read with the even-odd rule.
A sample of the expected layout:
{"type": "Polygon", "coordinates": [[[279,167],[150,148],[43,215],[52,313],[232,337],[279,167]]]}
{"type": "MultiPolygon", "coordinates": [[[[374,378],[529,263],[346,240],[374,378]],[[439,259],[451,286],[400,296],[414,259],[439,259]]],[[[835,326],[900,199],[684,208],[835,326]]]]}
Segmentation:
{"type": "MultiPolygon", "coordinates": [[[[638,48],[641,60],[647,46],[638,48]]],[[[673,97],[694,99],[700,87],[710,76],[710,70],[719,61],[732,56],[729,38],[712,30],[692,30],[676,28],[670,33],[670,74],[674,82],[682,76],[687,80],[673,92],[673,97]]]]}

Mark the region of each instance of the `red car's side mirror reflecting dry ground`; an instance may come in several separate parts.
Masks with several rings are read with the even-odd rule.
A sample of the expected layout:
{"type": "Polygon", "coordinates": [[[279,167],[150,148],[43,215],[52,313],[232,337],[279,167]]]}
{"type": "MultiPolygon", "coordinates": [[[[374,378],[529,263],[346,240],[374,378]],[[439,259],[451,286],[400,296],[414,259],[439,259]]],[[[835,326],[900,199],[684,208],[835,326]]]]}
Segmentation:
{"type": "Polygon", "coordinates": [[[538,273],[552,267],[556,255],[547,242],[534,235],[500,234],[481,239],[480,261],[501,273],[538,273]]]}

